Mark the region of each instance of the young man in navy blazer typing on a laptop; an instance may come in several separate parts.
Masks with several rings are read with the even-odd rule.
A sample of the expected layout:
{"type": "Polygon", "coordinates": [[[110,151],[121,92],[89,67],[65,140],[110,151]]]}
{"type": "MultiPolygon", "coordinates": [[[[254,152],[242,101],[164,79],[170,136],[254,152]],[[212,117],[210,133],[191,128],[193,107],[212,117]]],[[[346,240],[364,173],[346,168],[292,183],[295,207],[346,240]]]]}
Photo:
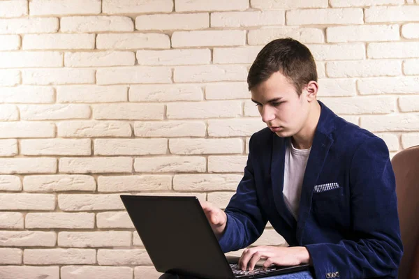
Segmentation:
{"type": "Polygon", "coordinates": [[[316,63],[296,40],[267,44],[247,82],[267,128],[251,137],[226,210],[202,203],[223,251],[246,248],[270,221],[290,247],[245,249],[242,269],[266,259],[313,266],[289,278],[397,278],[403,248],[383,140],[316,100],[316,63]]]}

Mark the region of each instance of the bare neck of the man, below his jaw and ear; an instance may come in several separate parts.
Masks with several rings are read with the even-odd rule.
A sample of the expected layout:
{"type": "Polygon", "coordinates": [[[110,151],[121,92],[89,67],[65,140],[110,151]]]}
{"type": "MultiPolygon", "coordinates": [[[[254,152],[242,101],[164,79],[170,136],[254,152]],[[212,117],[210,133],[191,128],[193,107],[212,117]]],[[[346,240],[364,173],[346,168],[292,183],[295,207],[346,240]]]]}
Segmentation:
{"type": "Polygon", "coordinates": [[[313,144],[314,134],[316,133],[317,124],[321,113],[320,104],[316,101],[316,103],[313,105],[314,106],[311,109],[311,113],[307,118],[306,125],[300,130],[300,132],[291,137],[293,146],[296,149],[309,149],[311,144],[313,144]]]}

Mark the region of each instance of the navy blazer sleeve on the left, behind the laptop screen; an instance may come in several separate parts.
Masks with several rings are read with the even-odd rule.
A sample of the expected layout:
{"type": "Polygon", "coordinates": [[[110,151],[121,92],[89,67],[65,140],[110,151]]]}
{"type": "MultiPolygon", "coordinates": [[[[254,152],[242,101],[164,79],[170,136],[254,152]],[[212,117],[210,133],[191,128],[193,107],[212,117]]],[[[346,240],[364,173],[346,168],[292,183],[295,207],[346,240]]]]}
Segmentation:
{"type": "Polygon", "coordinates": [[[226,207],[226,229],[219,239],[223,252],[239,250],[249,246],[262,234],[267,223],[267,217],[260,210],[253,175],[251,151],[252,139],[249,141],[249,156],[244,176],[237,186],[235,195],[226,207]]]}

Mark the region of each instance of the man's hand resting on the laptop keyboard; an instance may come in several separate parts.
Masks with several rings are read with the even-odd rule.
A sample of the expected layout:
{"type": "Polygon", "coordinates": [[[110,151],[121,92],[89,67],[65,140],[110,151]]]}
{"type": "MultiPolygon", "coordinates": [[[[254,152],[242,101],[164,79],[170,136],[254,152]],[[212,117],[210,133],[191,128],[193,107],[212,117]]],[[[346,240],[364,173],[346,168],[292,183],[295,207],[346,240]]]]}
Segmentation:
{"type": "Polygon", "coordinates": [[[309,251],[305,247],[258,246],[244,249],[239,259],[240,269],[253,271],[259,259],[266,259],[263,269],[267,269],[272,264],[294,266],[309,264],[311,261],[309,251]]]}

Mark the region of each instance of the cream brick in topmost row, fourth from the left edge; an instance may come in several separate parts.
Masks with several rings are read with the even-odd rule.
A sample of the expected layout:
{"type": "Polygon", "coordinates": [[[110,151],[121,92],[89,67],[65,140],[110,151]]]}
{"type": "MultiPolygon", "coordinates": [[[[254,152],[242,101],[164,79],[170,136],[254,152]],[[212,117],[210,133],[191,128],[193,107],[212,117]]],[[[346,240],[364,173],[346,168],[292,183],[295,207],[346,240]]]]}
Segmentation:
{"type": "Polygon", "coordinates": [[[196,11],[212,11],[212,10],[246,10],[249,8],[247,0],[175,0],[175,10],[177,12],[196,12],[196,11]]]}

